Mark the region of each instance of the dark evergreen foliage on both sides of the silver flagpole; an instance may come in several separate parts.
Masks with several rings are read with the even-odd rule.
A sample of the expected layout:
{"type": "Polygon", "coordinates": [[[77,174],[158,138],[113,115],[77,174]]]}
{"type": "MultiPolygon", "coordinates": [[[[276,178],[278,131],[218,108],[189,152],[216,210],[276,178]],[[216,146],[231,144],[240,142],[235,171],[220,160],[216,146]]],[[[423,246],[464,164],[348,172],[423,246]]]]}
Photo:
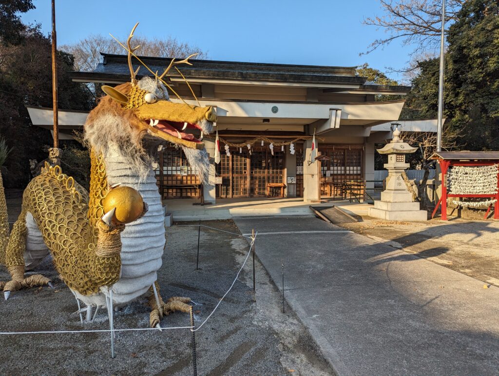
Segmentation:
{"type": "MultiPolygon", "coordinates": [[[[469,0],[450,27],[444,117],[459,145],[499,150],[499,0],[469,0]]],[[[439,59],[418,63],[401,119],[437,116],[439,59]]]]}

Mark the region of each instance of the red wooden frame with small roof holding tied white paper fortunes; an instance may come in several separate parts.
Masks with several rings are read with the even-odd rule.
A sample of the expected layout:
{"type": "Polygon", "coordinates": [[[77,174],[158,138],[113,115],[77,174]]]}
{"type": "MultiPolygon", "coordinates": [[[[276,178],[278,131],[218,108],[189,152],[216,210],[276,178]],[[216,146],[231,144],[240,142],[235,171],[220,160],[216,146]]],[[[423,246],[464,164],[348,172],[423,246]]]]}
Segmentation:
{"type": "MultiPolygon", "coordinates": [[[[494,219],[499,219],[499,171],[498,171],[498,192],[495,194],[451,194],[447,193],[446,174],[451,166],[492,166],[499,164],[499,151],[441,151],[434,153],[431,159],[439,161],[442,170],[442,195],[438,204],[433,210],[432,218],[435,216],[439,206],[442,205],[443,221],[447,221],[447,198],[448,197],[468,197],[468,198],[489,198],[496,199],[494,203],[494,219]]],[[[484,219],[487,218],[492,208],[489,205],[484,219]]]]}

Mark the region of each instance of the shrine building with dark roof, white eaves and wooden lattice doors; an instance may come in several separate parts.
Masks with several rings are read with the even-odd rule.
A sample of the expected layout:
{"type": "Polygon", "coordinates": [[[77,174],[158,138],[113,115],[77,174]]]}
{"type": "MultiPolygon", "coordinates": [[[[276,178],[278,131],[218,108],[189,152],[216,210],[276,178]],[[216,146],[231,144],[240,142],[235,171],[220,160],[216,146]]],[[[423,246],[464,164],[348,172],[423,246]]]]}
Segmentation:
{"type": "MultiPolygon", "coordinates": [[[[130,80],[127,55],[103,53],[102,57],[95,71],[72,72],[73,81],[93,82],[100,91],[103,84],[113,86],[130,80]]],[[[159,72],[171,61],[141,59],[151,70],[159,72]]],[[[280,195],[314,202],[321,197],[344,196],[344,182],[358,183],[359,189],[372,187],[374,145],[391,138],[391,122],[399,118],[403,96],[411,89],[367,82],[365,77],[356,75],[354,66],[192,62],[192,66],[179,65],[179,69],[197,99],[177,71],[171,73],[169,84],[189,104],[198,105],[199,100],[202,106],[214,106],[221,162],[216,164],[213,158],[215,133],[205,135],[203,142],[212,157],[213,186],[202,190],[182,150],[164,148],[156,173],[165,199],[198,197],[203,192],[204,200],[211,202],[217,198],[280,195]],[[380,96],[395,100],[379,101],[380,96]],[[310,163],[314,132],[319,154],[329,158],[310,163]],[[250,149],[246,146],[248,140],[261,136],[266,140],[258,140],[250,149]],[[289,142],[295,139],[291,146],[289,142]]],[[[138,79],[140,73],[149,72],[142,67],[138,79]]],[[[173,92],[170,98],[181,101],[173,92]]],[[[28,111],[34,125],[51,129],[51,109],[28,107],[28,111]]],[[[85,112],[61,109],[60,138],[71,137],[74,129],[82,128],[85,119],[85,112]]],[[[436,120],[399,123],[404,131],[436,130],[436,120]]]]}

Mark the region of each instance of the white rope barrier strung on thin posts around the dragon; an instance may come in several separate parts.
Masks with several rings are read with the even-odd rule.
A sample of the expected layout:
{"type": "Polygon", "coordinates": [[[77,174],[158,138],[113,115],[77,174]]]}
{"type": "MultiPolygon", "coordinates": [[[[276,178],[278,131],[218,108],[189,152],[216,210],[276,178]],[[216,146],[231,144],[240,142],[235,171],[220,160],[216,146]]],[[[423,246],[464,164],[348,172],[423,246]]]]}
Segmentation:
{"type": "MultiPolygon", "coordinates": [[[[214,229],[214,230],[218,230],[218,231],[223,231],[223,232],[227,232],[229,234],[235,234],[235,233],[231,233],[229,231],[224,231],[224,230],[221,230],[221,229],[217,229],[215,227],[209,227],[209,226],[205,226],[205,225],[180,225],[180,226],[203,226],[203,227],[208,227],[208,228],[211,228],[211,229],[214,229]]],[[[234,285],[236,284],[236,281],[238,280],[239,278],[239,275],[241,274],[241,272],[243,271],[243,268],[245,267],[246,265],[246,262],[248,261],[249,257],[250,257],[250,254],[251,254],[251,250],[254,246],[254,241],[256,239],[256,236],[258,235],[258,232],[256,232],[254,234],[254,237],[251,237],[251,236],[245,236],[245,235],[241,235],[241,234],[236,234],[238,236],[244,236],[246,238],[250,238],[251,239],[251,243],[250,243],[250,249],[248,251],[248,255],[246,255],[246,259],[245,261],[243,262],[243,265],[241,266],[241,268],[239,269],[238,273],[236,274],[236,278],[234,278],[234,281],[232,282],[232,285],[231,287],[229,287],[229,290],[227,290],[227,292],[224,294],[224,296],[220,299],[220,301],[217,303],[217,305],[215,306],[215,308],[213,309],[213,311],[210,313],[210,315],[208,315],[208,317],[205,319],[205,321],[203,321],[203,323],[199,326],[199,327],[195,327],[195,326],[189,326],[189,327],[160,327],[161,330],[176,330],[176,329],[190,329],[191,332],[197,332],[198,330],[200,330],[205,324],[206,322],[212,317],[212,315],[215,313],[215,311],[218,309],[218,307],[220,306],[220,304],[224,301],[225,297],[227,296],[227,294],[229,294],[232,290],[232,288],[234,287],[234,285]]],[[[65,330],[65,331],[39,331],[39,332],[0,332],[0,336],[10,336],[10,335],[33,335],[33,334],[78,334],[78,333],[109,333],[109,332],[140,332],[140,331],[151,331],[151,330],[154,330],[154,331],[158,331],[159,328],[127,328],[127,329],[95,329],[95,330],[65,330]]]]}

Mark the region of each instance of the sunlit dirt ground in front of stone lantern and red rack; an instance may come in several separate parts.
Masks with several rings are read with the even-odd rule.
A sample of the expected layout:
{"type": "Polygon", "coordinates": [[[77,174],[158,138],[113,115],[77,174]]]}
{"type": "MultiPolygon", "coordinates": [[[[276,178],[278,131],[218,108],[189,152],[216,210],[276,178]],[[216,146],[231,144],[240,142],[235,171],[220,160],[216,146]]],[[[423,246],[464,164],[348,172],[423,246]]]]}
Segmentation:
{"type": "Polygon", "coordinates": [[[499,287],[499,221],[401,222],[365,216],[338,226],[499,287]]]}

